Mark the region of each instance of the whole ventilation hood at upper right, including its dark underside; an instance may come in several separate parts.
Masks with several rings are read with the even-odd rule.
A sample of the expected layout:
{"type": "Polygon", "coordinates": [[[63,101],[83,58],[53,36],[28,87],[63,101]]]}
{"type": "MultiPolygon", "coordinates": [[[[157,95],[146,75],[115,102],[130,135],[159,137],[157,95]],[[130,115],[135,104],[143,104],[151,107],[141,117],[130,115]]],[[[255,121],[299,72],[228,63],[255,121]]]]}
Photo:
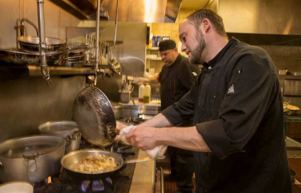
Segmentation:
{"type": "Polygon", "coordinates": [[[300,0],[209,0],[228,37],[248,44],[301,46],[300,0]]]}

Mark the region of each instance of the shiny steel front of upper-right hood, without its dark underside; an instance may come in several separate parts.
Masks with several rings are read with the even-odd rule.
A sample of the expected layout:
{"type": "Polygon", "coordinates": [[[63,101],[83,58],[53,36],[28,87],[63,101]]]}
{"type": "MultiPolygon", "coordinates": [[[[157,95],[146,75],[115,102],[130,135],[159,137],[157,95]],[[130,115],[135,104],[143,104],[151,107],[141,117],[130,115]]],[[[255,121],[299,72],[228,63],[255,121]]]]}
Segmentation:
{"type": "Polygon", "coordinates": [[[226,32],[301,35],[300,0],[219,0],[226,32]]]}

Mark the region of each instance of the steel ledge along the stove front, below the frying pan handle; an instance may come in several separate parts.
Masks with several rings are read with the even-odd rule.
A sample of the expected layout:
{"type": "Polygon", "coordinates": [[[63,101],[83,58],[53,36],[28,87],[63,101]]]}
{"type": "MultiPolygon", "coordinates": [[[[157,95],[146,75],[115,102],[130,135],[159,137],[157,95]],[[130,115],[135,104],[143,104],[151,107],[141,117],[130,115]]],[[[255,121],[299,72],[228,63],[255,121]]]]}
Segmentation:
{"type": "MultiPolygon", "coordinates": [[[[138,158],[147,157],[145,151],[139,150],[138,158]]],[[[156,161],[137,162],[132,178],[130,193],[149,193],[155,191],[155,167],[156,161]]]]}

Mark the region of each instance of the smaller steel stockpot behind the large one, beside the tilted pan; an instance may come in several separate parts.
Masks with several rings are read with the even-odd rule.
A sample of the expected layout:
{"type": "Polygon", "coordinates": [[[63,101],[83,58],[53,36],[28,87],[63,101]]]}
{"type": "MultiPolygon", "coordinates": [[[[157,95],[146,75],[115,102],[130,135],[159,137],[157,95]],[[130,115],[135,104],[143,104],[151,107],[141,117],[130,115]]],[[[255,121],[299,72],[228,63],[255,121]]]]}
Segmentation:
{"type": "Polygon", "coordinates": [[[70,120],[49,121],[39,125],[41,134],[64,138],[66,143],[65,152],[79,149],[81,133],[76,122],[70,120]]]}

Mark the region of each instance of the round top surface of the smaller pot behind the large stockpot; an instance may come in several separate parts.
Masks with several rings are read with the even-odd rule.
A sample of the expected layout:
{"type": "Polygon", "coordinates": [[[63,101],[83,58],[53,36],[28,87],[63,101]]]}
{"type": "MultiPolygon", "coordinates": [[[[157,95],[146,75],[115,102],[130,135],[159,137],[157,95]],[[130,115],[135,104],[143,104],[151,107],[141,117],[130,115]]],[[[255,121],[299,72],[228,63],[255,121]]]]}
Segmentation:
{"type": "Polygon", "coordinates": [[[79,131],[75,121],[62,120],[62,121],[49,121],[39,125],[39,129],[45,132],[66,132],[66,131],[79,131]]]}

